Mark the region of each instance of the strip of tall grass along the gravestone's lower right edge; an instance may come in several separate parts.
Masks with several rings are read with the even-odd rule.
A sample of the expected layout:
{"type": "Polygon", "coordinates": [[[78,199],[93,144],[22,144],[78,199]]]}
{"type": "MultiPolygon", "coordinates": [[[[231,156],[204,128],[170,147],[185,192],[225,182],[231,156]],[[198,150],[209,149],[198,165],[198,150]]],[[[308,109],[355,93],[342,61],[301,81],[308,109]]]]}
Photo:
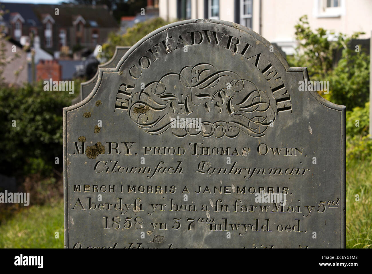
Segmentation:
{"type": "Polygon", "coordinates": [[[372,164],[346,163],[346,248],[372,248],[372,164]],[[356,201],[359,195],[359,201],[356,201]]]}

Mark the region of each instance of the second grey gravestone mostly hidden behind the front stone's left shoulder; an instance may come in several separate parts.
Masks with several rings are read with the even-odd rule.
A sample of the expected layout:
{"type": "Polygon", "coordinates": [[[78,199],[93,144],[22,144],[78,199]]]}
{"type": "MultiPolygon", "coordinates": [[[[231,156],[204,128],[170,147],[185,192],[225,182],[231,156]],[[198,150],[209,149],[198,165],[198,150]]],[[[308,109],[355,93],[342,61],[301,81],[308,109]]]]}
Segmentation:
{"type": "Polygon", "coordinates": [[[116,47],[115,48],[115,53],[112,56],[112,58],[108,62],[98,65],[98,70],[97,70],[96,75],[94,75],[94,77],[92,79],[90,79],[89,81],[81,83],[80,101],[83,101],[85,98],[87,98],[87,96],[90,94],[90,92],[92,92],[94,86],[96,85],[97,79],[98,79],[99,68],[100,67],[115,68],[118,65],[120,59],[129,50],[129,48],[131,48],[131,47],[116,47]]]}

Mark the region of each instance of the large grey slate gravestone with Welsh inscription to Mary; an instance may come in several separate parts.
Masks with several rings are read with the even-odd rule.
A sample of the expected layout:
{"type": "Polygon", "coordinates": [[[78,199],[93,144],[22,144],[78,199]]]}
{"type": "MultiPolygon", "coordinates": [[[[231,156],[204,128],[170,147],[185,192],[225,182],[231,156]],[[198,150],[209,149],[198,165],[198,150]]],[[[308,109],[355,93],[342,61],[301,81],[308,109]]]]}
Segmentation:
{"type": "Polygon", "coordinates": [[[64,108],[67,248],[344,248],[345,107],[263,37],[164,26],[64,108]]]}

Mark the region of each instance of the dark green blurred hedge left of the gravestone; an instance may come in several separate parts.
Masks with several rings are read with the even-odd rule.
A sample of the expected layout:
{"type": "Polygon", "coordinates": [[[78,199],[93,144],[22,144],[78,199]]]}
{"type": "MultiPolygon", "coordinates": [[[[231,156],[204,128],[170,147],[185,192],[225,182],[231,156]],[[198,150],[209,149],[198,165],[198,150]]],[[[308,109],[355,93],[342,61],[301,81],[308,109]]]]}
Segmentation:
{"type": "MultiPolygon", "coordinates": [[[[80,82],[75,81],[75,90],[80,82]]],[[[0,87],[0,173],[44,175],[62,166],[62,108],[78,95],[36,86],[0,87]],[[14,121],[15,120],[15,127],[14,121]],[[59,157],[59,164],[55,164],[59,157]]]]}

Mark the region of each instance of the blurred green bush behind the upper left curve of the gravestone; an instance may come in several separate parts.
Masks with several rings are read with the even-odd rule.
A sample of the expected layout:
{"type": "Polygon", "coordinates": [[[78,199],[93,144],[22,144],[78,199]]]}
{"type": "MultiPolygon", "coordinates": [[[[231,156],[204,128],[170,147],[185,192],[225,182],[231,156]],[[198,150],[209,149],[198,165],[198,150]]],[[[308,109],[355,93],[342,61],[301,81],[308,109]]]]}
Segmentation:
{"type": "Polygon", "coordinates": [[[112,32],[109,34],[107,43],[102,45],[102,54],[100,57],[109,60],[114,55],[116,46],[132,46],[150,32],[169,23],[159,17],[137,23],[132,28],[128,28],[123,35],[112,32]]]}

